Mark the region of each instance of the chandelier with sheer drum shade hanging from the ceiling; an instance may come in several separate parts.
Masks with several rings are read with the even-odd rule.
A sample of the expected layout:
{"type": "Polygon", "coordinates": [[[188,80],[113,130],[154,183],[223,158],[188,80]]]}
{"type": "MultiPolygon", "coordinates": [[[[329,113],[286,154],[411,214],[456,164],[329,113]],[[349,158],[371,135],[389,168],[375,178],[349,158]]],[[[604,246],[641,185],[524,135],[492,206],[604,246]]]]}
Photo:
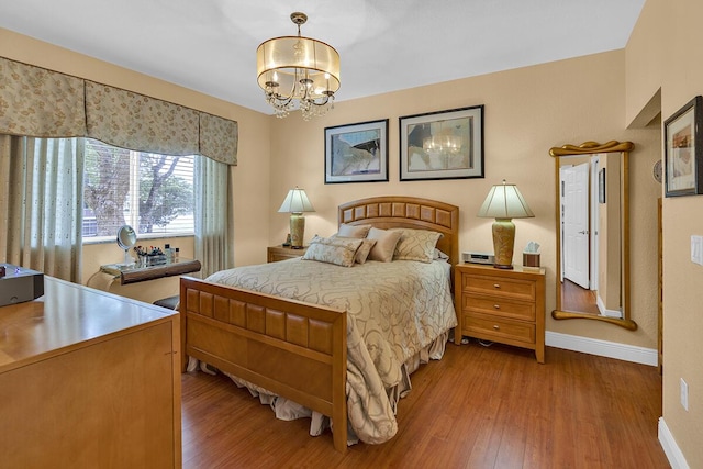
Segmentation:
{"type": "Polygon", "coordinates": [[[298,25],[297,36],[274,37],[256,49],[259,87],[277,118],[300,109],[303,119],[324,115],[334,108],[339,89],[339,54],[334,47],[300,35],[308,15],[290,15],[298,25]]]}

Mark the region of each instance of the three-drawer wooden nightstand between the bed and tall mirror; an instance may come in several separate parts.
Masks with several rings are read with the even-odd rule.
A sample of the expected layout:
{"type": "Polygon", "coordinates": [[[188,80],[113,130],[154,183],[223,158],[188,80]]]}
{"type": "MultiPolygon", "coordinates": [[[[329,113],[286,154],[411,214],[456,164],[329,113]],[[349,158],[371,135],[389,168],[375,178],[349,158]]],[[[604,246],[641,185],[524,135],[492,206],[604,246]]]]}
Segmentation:
{"type": "Polygon", "coordinates": [[[461,264],[455,267],[455,304],[462,336],[535,350],[545,361],[545,269],[461,264]]]}

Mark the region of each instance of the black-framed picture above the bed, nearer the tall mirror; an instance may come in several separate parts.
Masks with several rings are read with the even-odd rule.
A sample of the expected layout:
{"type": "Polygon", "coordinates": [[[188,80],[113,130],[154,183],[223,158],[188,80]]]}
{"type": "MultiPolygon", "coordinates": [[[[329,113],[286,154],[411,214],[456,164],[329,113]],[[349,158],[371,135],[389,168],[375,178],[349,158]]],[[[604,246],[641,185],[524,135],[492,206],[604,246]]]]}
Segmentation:
{"type": "Polygon", "coordinates": [[[400,180],[483,177],[483,105],[400,118],[400,180]]]}

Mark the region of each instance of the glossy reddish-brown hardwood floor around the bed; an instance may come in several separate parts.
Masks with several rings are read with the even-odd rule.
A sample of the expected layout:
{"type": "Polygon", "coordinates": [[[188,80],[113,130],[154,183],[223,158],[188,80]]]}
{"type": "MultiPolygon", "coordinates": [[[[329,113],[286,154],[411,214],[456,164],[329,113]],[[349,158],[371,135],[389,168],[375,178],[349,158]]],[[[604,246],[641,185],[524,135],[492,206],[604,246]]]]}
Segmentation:
{"type": "Polygon", "coordinates": [[[345,455],[309,420],[282,422],[227,378],[182,377],[183,468],[668,468],[657,368],[476,340],[421,367],[399,432],[345,455]]]}

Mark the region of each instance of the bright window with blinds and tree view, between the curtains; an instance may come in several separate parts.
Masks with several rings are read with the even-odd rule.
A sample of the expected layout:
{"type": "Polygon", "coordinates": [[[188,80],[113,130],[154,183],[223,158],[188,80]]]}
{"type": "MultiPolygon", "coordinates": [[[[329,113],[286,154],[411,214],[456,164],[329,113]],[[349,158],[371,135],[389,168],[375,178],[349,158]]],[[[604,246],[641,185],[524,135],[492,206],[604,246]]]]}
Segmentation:
{"type": "Polygon", "coordinates": [[[85,238],[114,237],[125,224],[140,236],[193,234],[197,156],[133,152],[91,138],[85,144],[85,238]]]}

